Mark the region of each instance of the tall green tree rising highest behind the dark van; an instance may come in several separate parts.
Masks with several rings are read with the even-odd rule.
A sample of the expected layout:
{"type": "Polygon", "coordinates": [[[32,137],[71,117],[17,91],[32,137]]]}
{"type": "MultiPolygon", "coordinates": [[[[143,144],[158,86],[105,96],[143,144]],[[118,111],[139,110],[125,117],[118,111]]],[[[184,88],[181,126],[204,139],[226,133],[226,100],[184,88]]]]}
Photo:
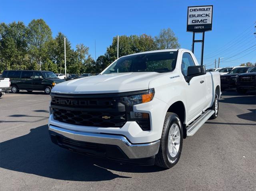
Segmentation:
{"type": "Polygon", "coordinates": [[[50,27],[42,19],[33,19],[28,24],[28,45],[32,61],[36,61],[41,68],[42,61],[47,58],[46,43],[52,39],[50,27]]]}

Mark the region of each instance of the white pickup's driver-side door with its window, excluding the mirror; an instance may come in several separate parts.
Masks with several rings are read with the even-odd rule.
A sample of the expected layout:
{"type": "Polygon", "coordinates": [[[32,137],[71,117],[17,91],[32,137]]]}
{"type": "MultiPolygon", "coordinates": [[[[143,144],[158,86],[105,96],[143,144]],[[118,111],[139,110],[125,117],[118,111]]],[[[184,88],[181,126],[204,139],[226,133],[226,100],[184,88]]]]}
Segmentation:
{"type": "MultiPolygon", "coordinates": [[[[181,71],[184,76],[187,75],[189,66],[195,66],[194,60],[190,53],[185,52],[182,55],[181,71]]],[[[200,75],[193,77],[189,83],[184,79],[186,100],[187,100],[187,113],[188,121],[193,120],[200,114],[204,109],[206,103],[206,82],[205,76],[200,75]]]]}

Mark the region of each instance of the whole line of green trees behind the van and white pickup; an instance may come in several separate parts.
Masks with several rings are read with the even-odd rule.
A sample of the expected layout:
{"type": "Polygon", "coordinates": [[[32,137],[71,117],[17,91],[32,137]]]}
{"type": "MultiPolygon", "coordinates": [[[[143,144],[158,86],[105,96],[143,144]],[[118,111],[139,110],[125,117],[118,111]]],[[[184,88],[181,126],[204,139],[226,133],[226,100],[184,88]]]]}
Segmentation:
{"type": "MultiPolygon", "coordinates": [[[[4,70],[48,70],[64,73],[64,37],[59,32],[52,37],[50,27],[42,19],[0,24],[0,73],[4,70]]],[[[159,35],[119,36],[119,57],[157,49],[179,48],[178,38],[168,28],[159,35]]],[[[117,36],[104,55],[95,61],[89,47],[83,43],[72,49],[66,37],[67,73],[99,73],[117,59],[117,36]]]]}

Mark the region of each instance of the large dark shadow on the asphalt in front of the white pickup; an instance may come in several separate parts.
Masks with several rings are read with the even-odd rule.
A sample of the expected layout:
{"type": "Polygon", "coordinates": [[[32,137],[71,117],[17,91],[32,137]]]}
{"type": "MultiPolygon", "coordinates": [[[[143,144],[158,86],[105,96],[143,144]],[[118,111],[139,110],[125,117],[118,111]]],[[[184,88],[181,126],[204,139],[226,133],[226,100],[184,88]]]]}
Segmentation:
{"type": "Polygon", "coordinates": [[[54,179],[103,181],[130,178],[108,169],[135,173],[164,170],[154,166],[124,165],[64,150],[52,144],[47,125],[31,129],[29,134],[1,142],[0,145],[0,167],[54,179]]]}

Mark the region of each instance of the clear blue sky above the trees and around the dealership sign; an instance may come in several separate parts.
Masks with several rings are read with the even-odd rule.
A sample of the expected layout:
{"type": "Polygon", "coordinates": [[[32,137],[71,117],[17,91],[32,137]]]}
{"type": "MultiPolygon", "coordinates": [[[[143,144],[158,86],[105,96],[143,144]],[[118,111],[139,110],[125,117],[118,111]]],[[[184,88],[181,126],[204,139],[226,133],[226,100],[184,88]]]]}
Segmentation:
{"type": "MultiPolygon", "coordinates": [[[[191,49],[192,33],[186,32],[187,7],[197,5],[214,6],[212,31],[205,33],[204,64],[208,68],[214,67],[218,57],[224,57],[221,67],[256,62],[256,46],[252,47],[256,45],[255,0],[4,0],[0,22],[22,21],[27,25],[32,19],[42,18],[53,36],[64,33],[73,48],[84,43],[92,57],[95,39],[98,57],[116,35],[155,36],[163,28],[171,28],[181,47],[191,49]]],[[[195,49],[200,61],[200,46],[195,49]]]]}

